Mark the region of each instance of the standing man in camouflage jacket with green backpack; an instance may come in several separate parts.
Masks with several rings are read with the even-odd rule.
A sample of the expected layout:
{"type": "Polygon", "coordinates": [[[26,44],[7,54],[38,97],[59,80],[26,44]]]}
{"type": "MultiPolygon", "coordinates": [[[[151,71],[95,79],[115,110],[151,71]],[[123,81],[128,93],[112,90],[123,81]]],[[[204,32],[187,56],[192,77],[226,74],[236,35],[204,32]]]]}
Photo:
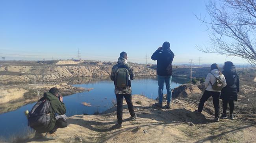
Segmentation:
{"type": "Polygon", "coordinates": [[[122,103],[125,98],[128,105],[128,110],[131,115],[131,120],[135,120],[137,115],[134,113],[132,105],[132,88],[131,80],[134,80],[135,75],[132,66],[127,62],[126,52],[121,52],[117,64],[113,66],[110,78],[115,84],[115,95],[117,98],[117,124],[122,128],[122,103]]]}

